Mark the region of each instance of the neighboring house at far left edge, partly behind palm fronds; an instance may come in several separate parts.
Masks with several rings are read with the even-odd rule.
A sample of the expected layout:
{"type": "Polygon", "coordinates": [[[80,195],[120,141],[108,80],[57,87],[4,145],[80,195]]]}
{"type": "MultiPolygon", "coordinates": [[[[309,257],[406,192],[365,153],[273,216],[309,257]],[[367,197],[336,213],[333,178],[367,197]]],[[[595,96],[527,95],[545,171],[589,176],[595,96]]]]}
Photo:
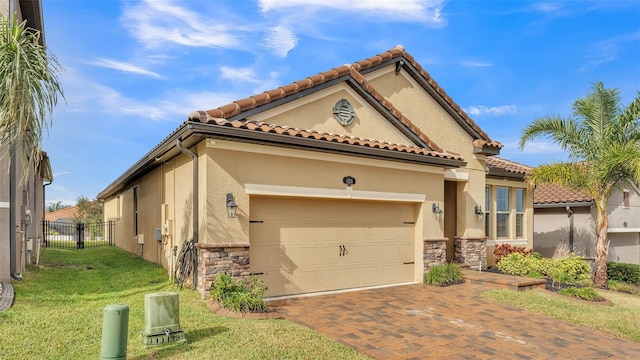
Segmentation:
{"type": "MultiPolygon", "coordinates": [[[[42,4],[40,0],[10,0],[0,2],[0,14],[7,19],[17,14],[18,21],[27,21],[29,27],[42,33],[42,4]]],[[[42,237],[44,219],[43,182],[53,181],[49,157],[42,152],[39,169],[23,169],[21,151],[12,159],[6,146],[0,144],[0,281],[20,278],[27,262],[27,245],[42,237]],[[24,182],[20,180],[27,173],[24,182]]]]}

